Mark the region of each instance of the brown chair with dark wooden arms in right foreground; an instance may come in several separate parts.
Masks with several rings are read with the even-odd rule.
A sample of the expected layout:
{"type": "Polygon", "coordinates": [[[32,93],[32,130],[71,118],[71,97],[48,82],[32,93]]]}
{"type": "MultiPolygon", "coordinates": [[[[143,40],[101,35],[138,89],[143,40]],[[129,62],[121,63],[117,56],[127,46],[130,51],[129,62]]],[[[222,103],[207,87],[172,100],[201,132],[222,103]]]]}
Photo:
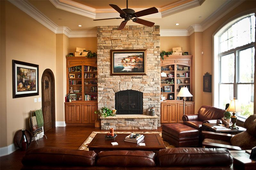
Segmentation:
{"type": "Polygon", "coordinates": [[[202,131],[202,146],[206,148],[227,148],[228,150],[251,150],[256,146],[256,115],[245,122],[246,131],[236,135],[202,131]]]}

